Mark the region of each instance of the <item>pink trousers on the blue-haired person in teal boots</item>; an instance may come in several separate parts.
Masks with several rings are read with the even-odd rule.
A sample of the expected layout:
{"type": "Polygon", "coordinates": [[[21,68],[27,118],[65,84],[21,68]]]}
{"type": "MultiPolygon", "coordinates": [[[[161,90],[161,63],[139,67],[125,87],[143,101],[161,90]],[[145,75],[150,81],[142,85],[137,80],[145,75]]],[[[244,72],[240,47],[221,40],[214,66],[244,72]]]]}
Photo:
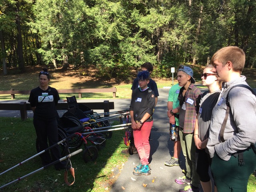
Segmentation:
{"type": "Polygon", "coordinates": [[[147,165],[149,154],[150,154],[150,144],[149,135],[151,128],[153,126],[153,121],[144,122],[139,129],[133,130],[134,144],[138,150],[140,156],[140,162],[142,165],[147,165]]]}

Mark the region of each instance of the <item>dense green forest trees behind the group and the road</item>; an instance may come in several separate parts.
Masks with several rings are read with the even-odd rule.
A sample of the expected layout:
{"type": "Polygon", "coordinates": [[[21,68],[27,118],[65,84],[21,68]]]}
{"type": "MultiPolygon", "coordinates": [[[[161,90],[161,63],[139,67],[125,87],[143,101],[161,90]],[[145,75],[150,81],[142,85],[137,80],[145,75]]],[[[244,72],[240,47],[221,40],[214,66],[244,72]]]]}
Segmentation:
{"type": "Polygon", "coordinates": [[[126,78],[144,62],[170,77],[179,64],[204,66],[223,46],[256,60],[255,0],[1,0],[0,67],[94,66],[126,78]]]}

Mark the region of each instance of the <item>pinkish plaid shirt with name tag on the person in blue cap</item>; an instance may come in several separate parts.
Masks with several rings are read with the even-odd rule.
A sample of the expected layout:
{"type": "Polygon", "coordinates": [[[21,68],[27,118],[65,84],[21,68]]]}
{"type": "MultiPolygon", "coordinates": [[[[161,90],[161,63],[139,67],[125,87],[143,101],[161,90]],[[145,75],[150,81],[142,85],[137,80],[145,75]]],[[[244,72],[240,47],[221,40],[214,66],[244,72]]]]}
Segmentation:
{"type": "Polygon", "coordinates": [[[198,96],[201,96],[201,91],[194,86],[194,84],[190,84],[188,86],[188,90],[185,93],[185,99],[182,96],[182,92],[184,87],[180,88],[179,101],[180,101],[180,109],[182,108],[183,103],[186,105],[186,112],[184,118],[184,133],[193,133],[196,122],[196,99],[198,96]]]}

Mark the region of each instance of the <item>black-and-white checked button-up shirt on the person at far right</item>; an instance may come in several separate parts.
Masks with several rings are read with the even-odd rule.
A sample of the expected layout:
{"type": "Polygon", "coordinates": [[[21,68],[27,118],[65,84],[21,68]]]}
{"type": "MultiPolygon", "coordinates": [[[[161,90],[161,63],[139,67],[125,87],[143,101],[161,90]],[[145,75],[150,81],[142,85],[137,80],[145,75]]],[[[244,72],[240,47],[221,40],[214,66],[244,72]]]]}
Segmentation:
{"type": "Polygon", "coordinates": [[[246,84],[246,77],[226,82],[212,111],[209,140],[207,148],[210,157],[214,152],[228,161],[232,154],[248,148],[256,142],[256,98],[252,92],[243,87],[235,87],[229,93],[230,112],[224,131],[224,140],[220,140],[220,129],[226,115],[226,97],[230,88],[237,84],[246,84]]]}

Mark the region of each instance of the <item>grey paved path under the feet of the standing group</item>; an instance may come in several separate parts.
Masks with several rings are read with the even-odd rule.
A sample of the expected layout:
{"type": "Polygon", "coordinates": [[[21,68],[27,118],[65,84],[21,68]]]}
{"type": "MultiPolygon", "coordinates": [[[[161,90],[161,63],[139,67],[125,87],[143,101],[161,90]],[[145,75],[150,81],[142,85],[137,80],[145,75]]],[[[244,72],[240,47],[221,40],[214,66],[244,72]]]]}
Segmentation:
{"type": "MultiPolygon", "coordinates": [[[[159,89],[158,102],[153,115],[153,128],[150,138],[150,168],[149,176],[134,176],[134,166],[139,161],[138,154],[129,155],[120,176],[112,186],[111,192],[178,192],[186,185],[174,182],[175,178],[184,176],[182,169],[185,168],[185,159],[182,155],[180,166],[168,167],[164,162],[173,156],[173,142],[169,136],[169,120],[167,118],[167,100],[169,89],[159,89]],[[144,187],[146,184],[146,187],[144,187]]],[[[126,104],[129,106],[129,102],[126,104]]],[[[116,103],[115,103],[116,107],[116,103]]]]}

